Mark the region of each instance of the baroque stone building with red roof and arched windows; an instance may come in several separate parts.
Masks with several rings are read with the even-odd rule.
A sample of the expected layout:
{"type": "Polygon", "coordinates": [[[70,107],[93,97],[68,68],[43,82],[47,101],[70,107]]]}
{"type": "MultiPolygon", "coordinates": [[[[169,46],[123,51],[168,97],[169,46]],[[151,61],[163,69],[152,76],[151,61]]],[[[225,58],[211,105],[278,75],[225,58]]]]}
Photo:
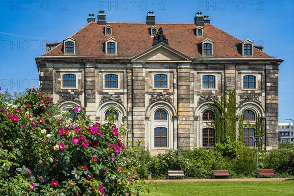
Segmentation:
{"type": "MultiPolygon", "coordinates": [[[[42,91],[65,110],[85,107],[94,122],[104,123],[116,107],[115,123],[133,130],[126,139],[143,141],[151,154],[214,147],[208,104],[234,89],[236,115],[244,114],[246,124],[261,118],[266,149],[278,145],[283,60],[211,25],[202,13],[194,23],[155,23],[153,12],[146,23],[118,23],[99,11],[98,21],[89,14],[87,25],[47,46],[36,58],[42,91]]],[[[246,145],[254,146],[254,128],[243,131],[246,145]]]]}

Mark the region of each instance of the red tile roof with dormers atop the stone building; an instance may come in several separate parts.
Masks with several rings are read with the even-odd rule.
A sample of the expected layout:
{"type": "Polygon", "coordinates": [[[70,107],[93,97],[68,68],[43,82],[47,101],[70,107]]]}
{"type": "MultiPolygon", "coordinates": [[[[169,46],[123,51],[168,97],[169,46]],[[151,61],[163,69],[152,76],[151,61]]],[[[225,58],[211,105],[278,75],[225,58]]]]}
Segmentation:
{"type": "MultiPolygon", "coordinates": [[[[112,26],[112,37],[118,41],[118,57],[132,57],[152,47],[151,26],[146,23],[110,22],[106,25],[112,26]]],[[[253,48],[253,56],[243,57],[237,49],[243,41],[211,24],[204,24],[203,37],[196,37],[194,30],[197,26],[191,23],[156,23],[156,26],[162,27],[170,47],[192,58],[203,57],[198,45],[207,38],[214,42],[212,58],[275,58],[256,48],[253,48]]],[[[110,57],[103,50],[105,41],[110,38],[105,36],[104,27],[91,22],[75,32],[71,36],[75,40],[75,55],[64,55],[63,43],[60,43],[41,56],[110,57]]]]}

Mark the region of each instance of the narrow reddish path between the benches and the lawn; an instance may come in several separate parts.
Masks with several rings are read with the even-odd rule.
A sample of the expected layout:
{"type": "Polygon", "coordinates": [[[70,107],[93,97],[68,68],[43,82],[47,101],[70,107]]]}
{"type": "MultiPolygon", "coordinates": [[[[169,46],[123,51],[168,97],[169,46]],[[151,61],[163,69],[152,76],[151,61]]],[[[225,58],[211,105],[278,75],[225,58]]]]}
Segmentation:
{"type": "MultiPolygon", "coordinates": [[[[153,182],[221,182],[221,181],[273,181],[294,180],[294,178],[221,178],[221,179],[174,179],[174,180],[152,180],[153,182]]],[[[144,180],[149,182],[149,180],[144,180]]]]}

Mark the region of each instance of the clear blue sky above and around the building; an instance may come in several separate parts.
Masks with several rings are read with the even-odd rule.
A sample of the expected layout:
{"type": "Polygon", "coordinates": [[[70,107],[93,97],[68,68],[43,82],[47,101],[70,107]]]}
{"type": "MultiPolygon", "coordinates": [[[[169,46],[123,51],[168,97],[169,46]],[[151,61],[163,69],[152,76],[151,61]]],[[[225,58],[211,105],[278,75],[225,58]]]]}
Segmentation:
{"type": "MultiPolygon", "coordinates": [[[[263,45],[282,58],[279,70],[279,122],[294,118],[294,1],[292,0],[26,0],[0,1],[0,86],[10,92],[38,87],[35,58],[46,42],[59,42],[105,10],[109,22],[146,22],[148,11],[161,23],[193,23],[196,12],[241,39],[263,45]]],[[[289,122],[289,121],[288,121],[289,122]]]]}

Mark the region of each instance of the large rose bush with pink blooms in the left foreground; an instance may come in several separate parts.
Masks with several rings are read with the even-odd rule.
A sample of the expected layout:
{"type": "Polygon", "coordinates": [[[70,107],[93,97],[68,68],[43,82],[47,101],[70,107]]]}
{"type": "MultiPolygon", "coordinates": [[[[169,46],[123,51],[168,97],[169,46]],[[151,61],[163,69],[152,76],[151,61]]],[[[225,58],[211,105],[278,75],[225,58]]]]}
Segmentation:
{"type": "Polygon", "coordinates": [[[9,163],[0,167],[0,195],[125,196],[145,190],[118,164],[125,131],[113,121],[93,123],[80,106],[68,119],[34,88],[16,98],[15,107],[0,99],[0,157],[9,163]]]}

